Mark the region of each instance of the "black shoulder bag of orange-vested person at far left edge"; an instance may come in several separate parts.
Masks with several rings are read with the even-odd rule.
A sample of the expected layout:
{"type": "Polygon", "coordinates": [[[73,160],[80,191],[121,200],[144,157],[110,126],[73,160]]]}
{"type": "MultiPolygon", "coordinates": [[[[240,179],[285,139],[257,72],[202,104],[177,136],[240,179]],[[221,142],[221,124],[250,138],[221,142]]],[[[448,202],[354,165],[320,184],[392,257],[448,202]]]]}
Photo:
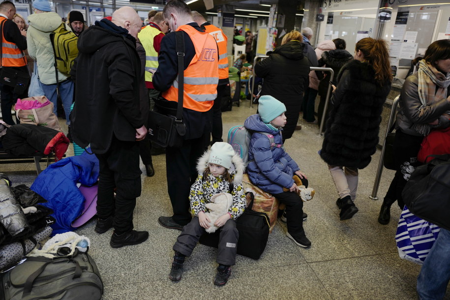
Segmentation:
{"type": "MultiPolygon", "coordinates": [[[[0,40],[3,39],[3,23],[6,20],[3,20],[0,25],[0,40]]],[[[0,64],[3,57],[3,47],[0,47],[0,64]]],[[[25,65],[27,65],[27,60],[25,60],[25,65]]],[[[10,86],[14,88],[14,92],[16,94],[22,94],[30,84],[30,73],[24,72],[20,67],[0,67],[0,83],[6,86],[10,86]]]]}

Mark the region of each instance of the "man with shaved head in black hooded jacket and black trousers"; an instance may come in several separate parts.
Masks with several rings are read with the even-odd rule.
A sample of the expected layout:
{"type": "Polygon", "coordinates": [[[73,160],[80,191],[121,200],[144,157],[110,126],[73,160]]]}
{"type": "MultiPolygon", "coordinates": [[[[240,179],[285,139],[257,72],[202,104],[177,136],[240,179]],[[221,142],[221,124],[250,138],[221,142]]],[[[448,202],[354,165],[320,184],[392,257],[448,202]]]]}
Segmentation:
{"type": "Polygon", "coordinates": [[[142,173],[137,141],[147,133],[139,110],[141,62],[136,37],[141,25],[136,11],[124,6],[111,21],[96,21],[78,40],[72,137],[81,147],[90,144],[100,162],[95,232],[114,227],[113,248],[149,237],[147,231],[133,230],[142,173]]]}

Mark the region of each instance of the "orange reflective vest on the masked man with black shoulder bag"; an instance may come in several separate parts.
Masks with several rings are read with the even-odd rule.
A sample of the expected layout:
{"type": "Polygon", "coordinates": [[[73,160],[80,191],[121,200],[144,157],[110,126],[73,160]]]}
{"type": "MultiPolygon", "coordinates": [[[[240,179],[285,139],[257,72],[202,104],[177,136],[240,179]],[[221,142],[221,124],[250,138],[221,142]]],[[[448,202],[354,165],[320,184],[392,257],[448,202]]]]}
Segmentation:
{"type": "MultiPolygon", "coordinates": [[[[217,44],[209,33],[189,25],[181,25],[177,31],[186,32],[195,48],[195,56],[184,70],[183,107],[198,112],[209,111],[217,97],[219,82],[217,44]]],[[[162,96],[178,102],[178,77],[162,96]]]]}

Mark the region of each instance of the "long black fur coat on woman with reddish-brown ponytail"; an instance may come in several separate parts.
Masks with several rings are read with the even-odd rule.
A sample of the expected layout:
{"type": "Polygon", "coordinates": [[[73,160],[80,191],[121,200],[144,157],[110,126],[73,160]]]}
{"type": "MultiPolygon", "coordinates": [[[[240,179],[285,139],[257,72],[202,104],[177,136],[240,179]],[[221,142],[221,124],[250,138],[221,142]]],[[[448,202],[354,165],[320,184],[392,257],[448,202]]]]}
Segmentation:
{"type": "Polygon", "coordinates": [[[342,67],[338,81],[320,156],[331,166],[363,169],[378,144],[390,82],[377,83],[373,67],[358,60],[342,67]]]}

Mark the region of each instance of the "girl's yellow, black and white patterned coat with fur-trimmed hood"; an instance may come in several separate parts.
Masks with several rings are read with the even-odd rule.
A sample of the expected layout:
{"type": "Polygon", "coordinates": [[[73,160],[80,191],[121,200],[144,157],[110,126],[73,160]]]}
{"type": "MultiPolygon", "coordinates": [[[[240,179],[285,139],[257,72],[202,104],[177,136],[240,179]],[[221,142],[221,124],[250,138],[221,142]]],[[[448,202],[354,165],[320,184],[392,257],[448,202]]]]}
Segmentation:
{"type": "Polygon", "coordinates": [[[223,176],[214,177],[208,174],[208,178],[203,178],[205,168],[208,167],[208,159],[211,150],[206,151],[198,160],[198,177],[191,186],[189,201],[191,213],[198,216],[200,211],[206,211],[205,204],[210,203],[211,197],[218,193],[230,193],[233,196],[233,203],[228,212],[233,220],[236,220],[244,212],[247,202],[245,201],[244,189],[242,186],[242,175],[245,170],[244,163],[238,154],[232,159],[232,167],[228,170],[233,180],[233,190],[230,191],[230,183],[223,179],[223,176]]]}

